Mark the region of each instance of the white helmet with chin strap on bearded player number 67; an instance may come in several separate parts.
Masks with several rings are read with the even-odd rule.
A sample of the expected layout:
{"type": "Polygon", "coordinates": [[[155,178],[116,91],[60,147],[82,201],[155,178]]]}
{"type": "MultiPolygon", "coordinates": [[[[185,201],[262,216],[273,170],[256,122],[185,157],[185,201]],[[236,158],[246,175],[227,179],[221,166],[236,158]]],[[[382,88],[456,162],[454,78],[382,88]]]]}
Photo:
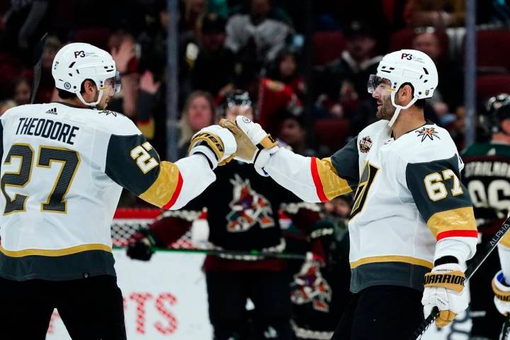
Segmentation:
{"type": "Polygon", "coordinates": [[[390,120],[392,126],[402,109],[409,108],[418,99],[431,98],[438,86],[436,64],[431,57],[417,50],[399,50],[388,53],[379,62],[377,74],[368,79],[368,93],[373,93],[381,81],[389,81],[392,105],[397,108],[390,120]],[[406,106],[395,103],[395,94],[403,84],[411,84],[413,98],[406,106]]]}

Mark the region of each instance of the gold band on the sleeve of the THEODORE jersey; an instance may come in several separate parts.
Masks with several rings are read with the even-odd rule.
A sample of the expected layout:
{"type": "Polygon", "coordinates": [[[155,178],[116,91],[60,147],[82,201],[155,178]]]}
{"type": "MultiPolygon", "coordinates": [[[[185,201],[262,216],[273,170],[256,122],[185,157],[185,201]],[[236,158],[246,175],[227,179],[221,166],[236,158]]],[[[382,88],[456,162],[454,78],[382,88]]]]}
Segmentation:
{"type": "Polygon", "coordinates": [[[159,166],[159,175],[156,181],[140,195],[140,198],[162,208],[174,196],[179,183],[179,168],[171,162],[161,162],[159,166]]]}

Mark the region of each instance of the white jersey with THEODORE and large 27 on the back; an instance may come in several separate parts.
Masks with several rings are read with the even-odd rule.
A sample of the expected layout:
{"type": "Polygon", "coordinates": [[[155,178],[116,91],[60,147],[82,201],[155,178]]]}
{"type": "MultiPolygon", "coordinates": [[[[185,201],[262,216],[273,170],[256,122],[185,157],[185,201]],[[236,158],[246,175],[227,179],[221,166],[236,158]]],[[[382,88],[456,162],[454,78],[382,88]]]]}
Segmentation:
{"type": "Polygon", "coordinates": [[[110,227],[122,188],[177,209],[215,180],[200,155],[160,162],[136,125],[113,111],[26,105],[0,123],[3,278],[114,276],[110,227]]]}

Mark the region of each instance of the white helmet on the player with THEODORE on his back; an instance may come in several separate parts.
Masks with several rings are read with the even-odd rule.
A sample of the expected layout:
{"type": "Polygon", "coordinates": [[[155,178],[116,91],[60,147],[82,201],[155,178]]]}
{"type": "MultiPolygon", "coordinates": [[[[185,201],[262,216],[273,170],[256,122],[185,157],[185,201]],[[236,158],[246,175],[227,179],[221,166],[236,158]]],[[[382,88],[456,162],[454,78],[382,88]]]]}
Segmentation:
{"type": "Polygon", "coordinates": [[[113,89],[120,91],[120,76],[110,53],[84,42],[73,42],[62,47],[52,65],[55,87],[76,94],[88,106],[96,106],[103,96],[106,79],[113,78],[113,89]],[[81,84],[91,79],[99,89],[98,100],[87,103],[81,96],[81,84]]]}

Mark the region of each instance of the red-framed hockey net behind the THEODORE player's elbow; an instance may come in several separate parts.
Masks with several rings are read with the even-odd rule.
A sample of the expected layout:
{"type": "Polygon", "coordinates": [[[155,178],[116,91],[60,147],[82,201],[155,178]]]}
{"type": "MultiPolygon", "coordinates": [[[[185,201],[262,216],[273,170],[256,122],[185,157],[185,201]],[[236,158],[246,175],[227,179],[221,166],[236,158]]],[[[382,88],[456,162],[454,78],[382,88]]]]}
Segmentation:
{"type": "MultiPolygon", "coordinates": [[[[129,240],[135,235],[138,229],[147,228],[157,217],[162,214],[159,209],[133,209],[118,208],[113,216],[111,225],[111,236],[113,246],[127,246],[129,240]]],[[[197,221],[203,224],[205,220],[201,218],[197,221]]],[[[194,223],[196,225],[197,223],[194,223]]],[[[173,249],[204,249],[206,245],[193,239],[193,232],[196,234],[196,227],[190,228],[186,234],[171,244],[169,248],[173,249]]]]}

